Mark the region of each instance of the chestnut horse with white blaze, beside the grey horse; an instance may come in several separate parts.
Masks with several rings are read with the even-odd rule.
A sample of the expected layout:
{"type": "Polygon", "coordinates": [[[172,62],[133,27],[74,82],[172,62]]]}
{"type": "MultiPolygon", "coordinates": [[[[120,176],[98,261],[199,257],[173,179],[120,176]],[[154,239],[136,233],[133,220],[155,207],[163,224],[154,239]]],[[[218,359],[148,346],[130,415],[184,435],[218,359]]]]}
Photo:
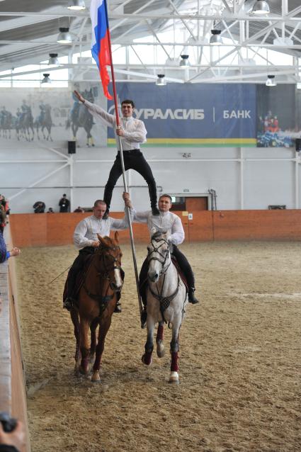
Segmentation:
{"type": "Polygon", "coordinates": [[[91,380],[101,378],[101,357],[106,334],[110,328],[112,315],[117,302],[117,294],[123,286],[120,247],[118,232],[115,238],[98,235],[99,247],[91,259],[84,282],[79,290],[79,307],[72,308],[70,315],[74,324],[76,339],[75,371],[84,375],[89,373],[89,361],[95,354],[91,380]],[[96,328],[99,325],[96,345],[96,328]],[[91,329],[91,345],[89,346],[89,328],[91,329]]]}

